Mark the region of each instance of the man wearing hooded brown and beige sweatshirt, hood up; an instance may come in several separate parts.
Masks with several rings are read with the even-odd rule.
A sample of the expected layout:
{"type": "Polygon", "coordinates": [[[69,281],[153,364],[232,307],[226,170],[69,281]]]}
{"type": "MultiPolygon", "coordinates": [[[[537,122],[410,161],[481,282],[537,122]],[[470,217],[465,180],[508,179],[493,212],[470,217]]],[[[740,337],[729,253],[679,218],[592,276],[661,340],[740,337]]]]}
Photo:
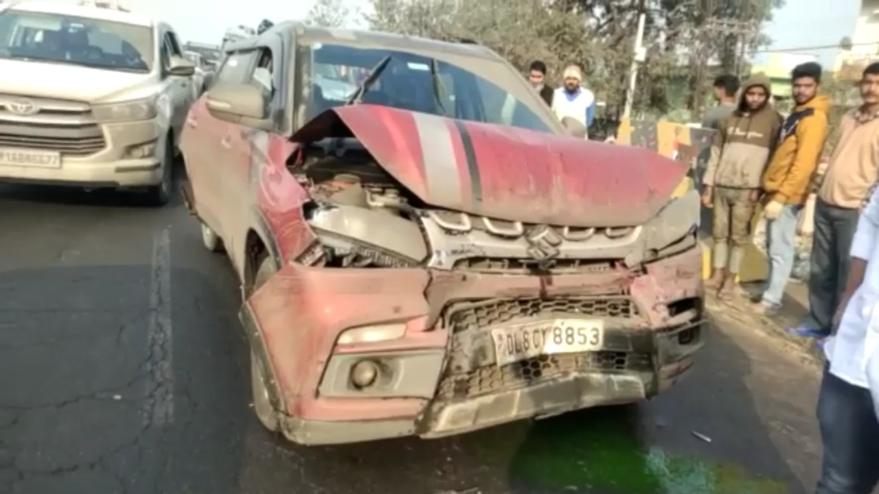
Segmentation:
{"type": "Polygon", "coordinates": [[[714,272],[705,286],[719,289],[722,297],[737,292],[745,247],[752,242],[760,181],[781,129],[781,115],[769,105],[770,87],[764,74],[745,83],[737,108],[718,124],[702,179],[702,204],[714,211],[714,272]]]}

